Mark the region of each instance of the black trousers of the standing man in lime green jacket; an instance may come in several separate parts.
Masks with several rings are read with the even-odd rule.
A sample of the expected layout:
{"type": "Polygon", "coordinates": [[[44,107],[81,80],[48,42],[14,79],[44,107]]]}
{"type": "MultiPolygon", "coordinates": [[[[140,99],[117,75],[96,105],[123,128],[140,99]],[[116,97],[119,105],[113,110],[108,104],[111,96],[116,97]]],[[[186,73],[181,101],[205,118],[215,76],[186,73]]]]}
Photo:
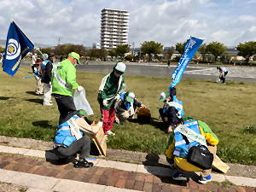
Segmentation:
{"type": "Polygon", "coordinates": [[[72,96],[62,96],[59,94],[53,94],[52,96],[55,97],[58,105],[58,109],[60,112],[59,125],[61,125],[62,123],[64,123],[64,119],[67,117],[67,114],[76,111],[77,109],[74,105],[72,96]]]}

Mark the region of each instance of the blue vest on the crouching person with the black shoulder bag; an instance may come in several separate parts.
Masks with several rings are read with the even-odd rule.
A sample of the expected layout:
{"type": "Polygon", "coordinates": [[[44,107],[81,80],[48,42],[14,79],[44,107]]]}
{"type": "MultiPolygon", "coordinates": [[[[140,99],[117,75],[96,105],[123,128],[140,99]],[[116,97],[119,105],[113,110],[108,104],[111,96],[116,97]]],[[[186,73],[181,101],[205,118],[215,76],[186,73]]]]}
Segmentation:
{"type": "MultiPolygon", "coordinates": [[[[196,120],[195,121],[186,121],[186,122],[184,122],[183,125],[180,125],[180,126],[186,126],[190,130],[189,132],[191,135],[202,136],[201,131],[199,129],[198,122],[196,120]]],[[[201,142],[201,141],[197,142],[195,140],[192,140],[190,137],[187,137],[189,140],[189,144],[187,144],[186,141],[183,139],[182,133],[177,128],[174,130],[175,147],[174,147],[173,155],[186,159],[189,154],[189,148],[191,148],[193,146],[198,146],[200,144],[199,142],[201,142]]]]}

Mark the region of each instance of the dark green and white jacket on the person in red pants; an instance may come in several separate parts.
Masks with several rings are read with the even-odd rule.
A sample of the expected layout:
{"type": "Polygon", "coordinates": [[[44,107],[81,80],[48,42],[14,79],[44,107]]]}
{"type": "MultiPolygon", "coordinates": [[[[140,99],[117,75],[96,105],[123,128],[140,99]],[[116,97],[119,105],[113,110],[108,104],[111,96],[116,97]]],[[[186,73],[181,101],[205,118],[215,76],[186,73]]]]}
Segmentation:
{"type": "Polygon", "coordinates": [[[125,77],[121,75],[119,77],[119,82],[117,82],[117,78],[114,73],[109,73],[102,79],[102,84],[99,88],[98,94],[98,102],[100,103],[101,108],[105,110],[109,110],[113,103],[114,97],[119,94],[119,91],[122,90],[123,84],[125,83],[125,77]],[[103,100],[108,100],[108,106],[105,107],[103,105],[103,100]]]}

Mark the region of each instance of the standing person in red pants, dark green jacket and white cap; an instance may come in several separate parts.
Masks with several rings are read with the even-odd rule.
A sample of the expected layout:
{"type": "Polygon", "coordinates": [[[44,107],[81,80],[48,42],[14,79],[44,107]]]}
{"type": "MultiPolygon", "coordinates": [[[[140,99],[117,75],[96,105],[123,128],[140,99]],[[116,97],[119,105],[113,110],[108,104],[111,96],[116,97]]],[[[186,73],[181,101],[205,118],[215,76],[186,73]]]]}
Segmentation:
{"type": "Polygon", "coordinates": [[[125,86],[125,64],[117,62],[113,67],[113,71],[102,79],[99,88],[98,102],[100,104],[102,114],[102,128],[108,141],[108,135],[115,135],[111,131],[115,118],[114,101],[119,99],[120,90],[125,86]]]}

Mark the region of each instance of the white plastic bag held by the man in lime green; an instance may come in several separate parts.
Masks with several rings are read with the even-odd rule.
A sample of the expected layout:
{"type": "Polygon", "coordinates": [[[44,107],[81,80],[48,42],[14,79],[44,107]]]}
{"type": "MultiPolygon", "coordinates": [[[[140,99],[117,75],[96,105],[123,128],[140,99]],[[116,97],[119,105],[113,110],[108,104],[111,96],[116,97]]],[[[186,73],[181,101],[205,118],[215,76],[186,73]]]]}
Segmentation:
{"type": "Polygon", "coordinates": [[[77,110],[84,109],[84,111],[86,111],[88,115],[93,114],[93,111],[90,108],[90,104],[89,104],[89,102],[87,101],[87,99],[85,97],[84,88],[81,92],[79,92],[78,90],[74,91],[73,102],[74,102],[77,110]]]}

